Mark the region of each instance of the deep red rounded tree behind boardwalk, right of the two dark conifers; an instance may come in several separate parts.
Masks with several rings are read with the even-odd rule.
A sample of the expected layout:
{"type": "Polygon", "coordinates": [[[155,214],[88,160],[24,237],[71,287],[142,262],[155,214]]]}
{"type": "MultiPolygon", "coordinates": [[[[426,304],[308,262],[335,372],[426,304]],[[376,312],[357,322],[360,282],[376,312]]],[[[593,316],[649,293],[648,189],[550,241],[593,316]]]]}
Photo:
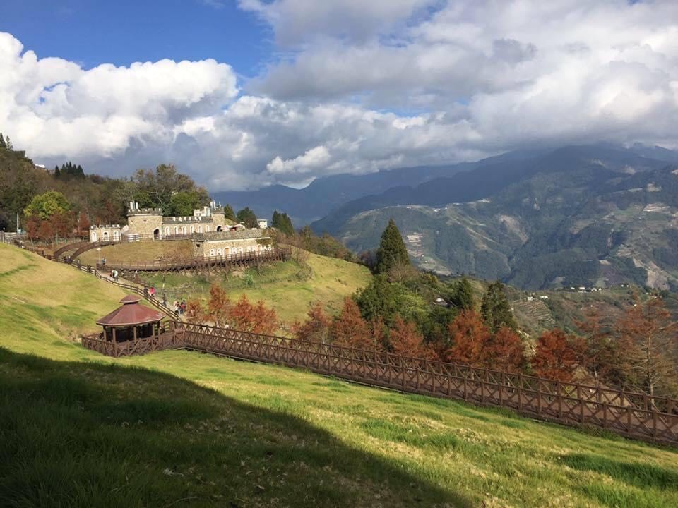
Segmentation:
{"type": "Polygon", "coordinates": [[[577,352],[573,338],[561,329],[544,332],[537,340],[532,367],[540,377],[569,382],[577,368],[577,352]]]}

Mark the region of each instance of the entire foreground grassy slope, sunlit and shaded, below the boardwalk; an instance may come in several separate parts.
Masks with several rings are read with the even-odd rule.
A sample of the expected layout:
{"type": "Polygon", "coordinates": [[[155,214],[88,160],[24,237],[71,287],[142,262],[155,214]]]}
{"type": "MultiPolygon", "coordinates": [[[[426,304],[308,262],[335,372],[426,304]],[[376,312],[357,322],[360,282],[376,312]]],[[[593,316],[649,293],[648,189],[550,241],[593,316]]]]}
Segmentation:
{"type": "Polygon", "coordinates": [[[0,504],[678,504],[672,450],[186,351],[103,358],[60,335],[114,308],[115,289],[14,248],[0,258],[0,294],[69,309],[76,275],[89,302],[67,325],[62,306],[2,317],[0,504]]]}

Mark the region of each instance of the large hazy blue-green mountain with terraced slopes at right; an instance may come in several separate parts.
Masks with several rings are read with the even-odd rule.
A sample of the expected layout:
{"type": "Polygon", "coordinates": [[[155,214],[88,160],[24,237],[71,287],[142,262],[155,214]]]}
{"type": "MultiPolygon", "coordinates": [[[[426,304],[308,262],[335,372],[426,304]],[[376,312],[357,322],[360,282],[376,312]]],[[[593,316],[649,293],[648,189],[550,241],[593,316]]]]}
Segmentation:
{"type": "Polygon", "coordinates": [[[314,228],[331,226],[359,251],[376,247],[390,217],[415,262],[439,272],[525,289],[678,288],[678,169],[635,150],[564,147],[481,163],[347,203],[314,228]]]}

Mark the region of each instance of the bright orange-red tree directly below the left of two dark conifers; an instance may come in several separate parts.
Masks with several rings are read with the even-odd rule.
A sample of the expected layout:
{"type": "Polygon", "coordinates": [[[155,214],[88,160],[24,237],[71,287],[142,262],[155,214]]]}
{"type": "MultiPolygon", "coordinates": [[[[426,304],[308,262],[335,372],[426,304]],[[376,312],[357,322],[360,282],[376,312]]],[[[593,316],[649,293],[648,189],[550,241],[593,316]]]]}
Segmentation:
{"type": "Polygon", "coordinates": [[[449,327],[451,347],[445,351],[446,361],[473,367],[486,367],[486,347],[490,334],[474,310],[462,310],[449,327]]]}

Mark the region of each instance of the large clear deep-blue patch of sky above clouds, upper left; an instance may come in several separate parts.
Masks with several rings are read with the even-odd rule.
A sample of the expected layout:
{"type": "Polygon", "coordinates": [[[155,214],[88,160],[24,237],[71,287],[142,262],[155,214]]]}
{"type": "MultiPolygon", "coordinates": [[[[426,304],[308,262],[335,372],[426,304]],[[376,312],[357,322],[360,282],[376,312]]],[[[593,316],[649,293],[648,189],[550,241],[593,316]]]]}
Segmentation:
{"type": "Polygon", "coordinates": [[[232,0],[2,0],[0,31],[40,58],[92,68],[134,61],[230,63],[256,75],[271,54],[270,27],[232,0]]]}

